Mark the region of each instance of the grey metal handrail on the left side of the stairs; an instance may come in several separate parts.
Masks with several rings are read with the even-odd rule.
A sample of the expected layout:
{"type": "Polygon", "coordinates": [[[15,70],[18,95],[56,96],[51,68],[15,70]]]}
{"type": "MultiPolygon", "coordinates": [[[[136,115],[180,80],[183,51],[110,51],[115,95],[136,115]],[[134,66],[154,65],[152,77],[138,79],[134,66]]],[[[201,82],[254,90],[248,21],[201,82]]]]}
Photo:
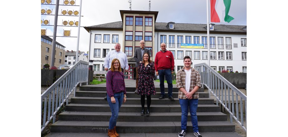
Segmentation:
{"type": "Polygon", "coordinates": [[[73,91],[75,95],[76,87],[79,83],[80,85],[82,83],[88,84],[88,62],[82,60],[78,61],[41,94],[41,119],[43,119],[41,122],[41,132],[52,118],[53,123],[55,123],[58,110],[65,101],[68,104],[69,95],[73,91]]]}

